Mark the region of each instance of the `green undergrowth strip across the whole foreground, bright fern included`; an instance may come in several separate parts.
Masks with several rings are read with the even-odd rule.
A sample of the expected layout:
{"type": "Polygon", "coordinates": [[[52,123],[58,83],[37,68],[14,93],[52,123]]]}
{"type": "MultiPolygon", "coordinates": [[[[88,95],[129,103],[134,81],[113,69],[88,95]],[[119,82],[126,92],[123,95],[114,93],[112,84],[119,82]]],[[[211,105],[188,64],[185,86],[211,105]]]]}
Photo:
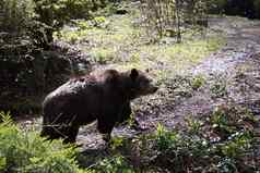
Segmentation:
{"type": "Polygon", "coordinates": [[[259,120],[235,103],[218,106],[209,116],[187,118],[181,128],[167,129],[158,124],[155,133],[114,137],[109,147],[97,150],[94,157],[61,140],[45,140],[32,129],[22,131],[9,114],[1,116],[3,173],[260,171],[259,120]]]}

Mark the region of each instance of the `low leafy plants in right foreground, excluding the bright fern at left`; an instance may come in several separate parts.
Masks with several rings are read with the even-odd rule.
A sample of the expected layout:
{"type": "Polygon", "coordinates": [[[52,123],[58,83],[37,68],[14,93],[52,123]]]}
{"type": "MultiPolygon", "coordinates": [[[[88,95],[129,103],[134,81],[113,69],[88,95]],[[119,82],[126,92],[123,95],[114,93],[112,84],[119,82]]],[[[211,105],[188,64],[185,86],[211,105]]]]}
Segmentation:
{"type": "Polygon", "coordinates": [[[206,118],[188,118],[186,126],[132,139],[114,138],[109,156],[92,164],[99,172],[256,172],[259,168],[258,120],[247,109],[220,106],[206,118]],[[256,128],[256,131],[255,131],[256,128]],[[133,169],[134,168],[134,169],[133,169]],[[120,170],[120,171],[119,171],[120,170]]]}

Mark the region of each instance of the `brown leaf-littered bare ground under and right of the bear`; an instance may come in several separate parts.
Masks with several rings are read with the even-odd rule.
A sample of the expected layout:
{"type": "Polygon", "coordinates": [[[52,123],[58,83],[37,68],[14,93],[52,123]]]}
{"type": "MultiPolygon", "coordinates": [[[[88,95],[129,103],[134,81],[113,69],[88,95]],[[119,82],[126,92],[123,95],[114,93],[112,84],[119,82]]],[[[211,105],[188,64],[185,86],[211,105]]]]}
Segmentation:
{"type": "MultiPolygon", "coordinates": [[[[209,26],[225,34],[224,48],[199,65],[167,76],[155,95],[134,100],[132,108],[140,128],[121,125],[113,131],[113,136],[150,133],[158,123],[167,128],[181,126],[187,118],[201,119],[220,104],[239,104],[260,115],[260,22],[211,17],[209,26]]],[[[26,120],[21,124],[37,124],[37,128],[39,122],[39,119],[26,120]]],[[[81,128],[78,143],[83,149],[104,146],[95,123],[81,128]]]]}

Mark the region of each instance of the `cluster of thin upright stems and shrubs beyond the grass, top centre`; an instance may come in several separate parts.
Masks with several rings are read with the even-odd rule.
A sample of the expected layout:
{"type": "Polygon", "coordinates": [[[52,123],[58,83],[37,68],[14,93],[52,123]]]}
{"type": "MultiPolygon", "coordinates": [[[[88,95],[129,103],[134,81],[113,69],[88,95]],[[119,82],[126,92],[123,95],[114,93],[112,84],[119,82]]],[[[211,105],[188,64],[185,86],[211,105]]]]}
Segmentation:
{"type": "Polygon", "coordinates": [[[208,1],[143,0],[141,2],[143,25],[151,38],[155,36],[154,40],[169,35],[180,42],[181,33],[187,24],[208,26],[208,1]]]}

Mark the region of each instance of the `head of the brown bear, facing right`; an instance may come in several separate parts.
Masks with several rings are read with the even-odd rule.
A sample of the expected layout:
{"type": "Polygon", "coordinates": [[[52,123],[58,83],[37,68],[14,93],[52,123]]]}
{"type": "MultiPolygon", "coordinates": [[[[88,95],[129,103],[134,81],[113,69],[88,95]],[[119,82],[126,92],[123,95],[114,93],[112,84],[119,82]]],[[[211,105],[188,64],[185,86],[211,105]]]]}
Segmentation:
{"type": "Polygon", "coordinates": [[[158,87],[153,84],[153,81],[142,71],[132,69],[126,74],[128,78],[129,86],[127,88],[129,88],[130,99],[154,94],[158,89],[158,87]]]}

